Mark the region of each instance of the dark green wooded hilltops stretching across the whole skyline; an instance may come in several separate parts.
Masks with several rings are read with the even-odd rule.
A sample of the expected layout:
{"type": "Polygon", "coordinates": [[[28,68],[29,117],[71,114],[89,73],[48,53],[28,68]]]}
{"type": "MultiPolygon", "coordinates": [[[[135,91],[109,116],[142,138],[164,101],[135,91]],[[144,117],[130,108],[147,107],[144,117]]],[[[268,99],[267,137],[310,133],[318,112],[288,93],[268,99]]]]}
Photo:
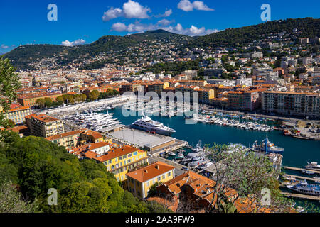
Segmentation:
{"type": "MultiPolygon", "coordinates": [[[[62,45],[23,45],[6,53],[12,64],[18,69],[28,68],[29,62],[46,57],[56,57],[57,63],[68,65],[75,59],[83,55],[99,55],[100,52],[121,52],[129,50],[144,44],[152,44],[154,41],[159,43],[181,43],[182,48],[206,48],[206,47],[237,47],[252,43],[254,40],[260,40],[261,35],[268,33],[277,33],[282,31],[292,31],[294,28],[299,29],[297,38],[309,37],[314,38],[320,35],[320,19],[297,18],[279,21],[269,21],[260,23],[255,26],[246,26],[242,28],[229,28],[218,33],[204,35],[199,37],[188,37],[169,33],[164,30],[147,31],[145,33],[117,36],[106,35],[99,38],[94,43],[80,45],[75,47],[65,47],[62,45]]],[[[130,56],[129,56],[130,57],[130,56]]],[[[83,67],[86,70],[99,68],[105,63],[112,63],[113,59],[92,62],[83,67]]]]}

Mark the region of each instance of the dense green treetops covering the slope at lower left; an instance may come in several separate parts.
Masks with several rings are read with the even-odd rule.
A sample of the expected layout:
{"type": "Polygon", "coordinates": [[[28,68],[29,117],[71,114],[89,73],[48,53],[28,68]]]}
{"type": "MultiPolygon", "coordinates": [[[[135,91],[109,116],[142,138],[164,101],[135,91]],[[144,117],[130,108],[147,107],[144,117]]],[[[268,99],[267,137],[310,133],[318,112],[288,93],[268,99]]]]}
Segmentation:
{"type": "MultiPolygon", "coordinates": [[[[105,165],[93,160],[79,161],[64,147],[43,138],[20,138],[16,133],[5,133],[0,146],[0,185],[12,182],[30,207],[24,211],[43,212],[166,212],[154,202],[140,201],[124,191],[105,165]],[[47,204],[48,189],[58,191],[58,206],[47,204]],[[36,209],[35,209],[36,208],[36,209]]],[[[9,189],[6,188],[6,191],[9,189]]],[[[16,197],[16,192],[11,190],[16,197]]],[[[0,198],[2,198],[0,196],[0,198]]],[[[10,201],[1,201],[1,211],[10,201]],[[6,203],[7,202],[7,203],[6,203]]]]}

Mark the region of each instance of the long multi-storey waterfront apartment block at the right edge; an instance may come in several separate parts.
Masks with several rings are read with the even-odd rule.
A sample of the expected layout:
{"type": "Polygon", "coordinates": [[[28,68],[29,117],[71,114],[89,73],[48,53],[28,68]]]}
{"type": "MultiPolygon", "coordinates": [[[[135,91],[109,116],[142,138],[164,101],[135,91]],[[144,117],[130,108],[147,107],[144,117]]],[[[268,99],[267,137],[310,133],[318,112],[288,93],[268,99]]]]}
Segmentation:
{"type": "Polygon", "coordinates": [[[319,118],[319,106],[319,94],[262,92],[262,109],[267,112],[319,118]]]}

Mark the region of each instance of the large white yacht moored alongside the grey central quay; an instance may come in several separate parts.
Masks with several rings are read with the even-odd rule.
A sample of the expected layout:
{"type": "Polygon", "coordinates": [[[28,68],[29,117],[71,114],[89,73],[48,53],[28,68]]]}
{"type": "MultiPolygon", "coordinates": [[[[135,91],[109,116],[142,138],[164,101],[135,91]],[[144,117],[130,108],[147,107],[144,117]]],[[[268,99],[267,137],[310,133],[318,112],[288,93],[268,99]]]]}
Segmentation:
{"type": "Polygon", "coordinates": [[[149,131],[151,133],[155,132],[161,135],[171,135],[172,133],[176,132],[174,129],[166,127],[163,123],[154,121],[149,116],[146,116],[144,114],[142,115],[142,118],[132,123],[132,128],[149,131]]]}

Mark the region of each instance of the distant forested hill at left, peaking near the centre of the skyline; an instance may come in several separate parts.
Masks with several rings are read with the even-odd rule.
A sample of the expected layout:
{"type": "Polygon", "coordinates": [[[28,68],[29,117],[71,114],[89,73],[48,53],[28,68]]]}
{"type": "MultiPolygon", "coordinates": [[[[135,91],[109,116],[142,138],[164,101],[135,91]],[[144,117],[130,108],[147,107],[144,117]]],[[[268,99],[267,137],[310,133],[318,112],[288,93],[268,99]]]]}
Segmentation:
{"type": "Polygon", "coordinates": [[[48,44],[22,45],[8,52],[5,57],[8,57],[11,64],[18,69],[24,69],[28,67],[28,63],[46,57],[58,57],[58,63],[66,65],[81,55],[98,55],[100,52],[109,51],[118,52],[150,43],[186,43],[192,39],[186,35],[178,35],[159,29],[125,36],[106,35],[93,43],[74,47],[48,44]]]}

